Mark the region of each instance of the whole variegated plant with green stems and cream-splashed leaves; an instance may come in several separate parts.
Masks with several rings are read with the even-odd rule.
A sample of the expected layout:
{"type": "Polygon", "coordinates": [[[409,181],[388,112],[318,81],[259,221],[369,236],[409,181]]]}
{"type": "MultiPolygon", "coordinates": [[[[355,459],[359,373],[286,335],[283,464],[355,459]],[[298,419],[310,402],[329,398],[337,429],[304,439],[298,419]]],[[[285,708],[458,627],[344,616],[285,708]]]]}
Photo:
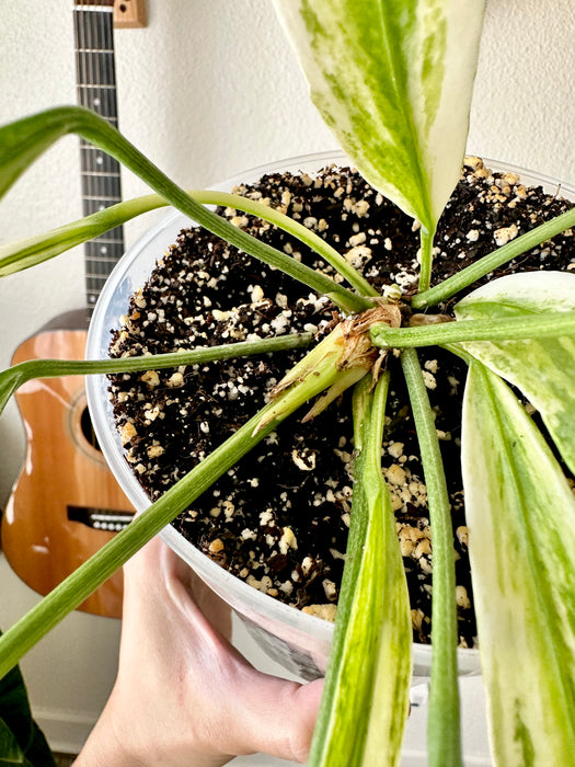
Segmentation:
{"type": "MultiPolygon", "coordinates": [[[[434,547],[429,763],[459,764],[452,533],[433,413],[414,351],[427,344],[447,345],[469,363],[463,477],[483,673],[493,710],[494,756],[502,765],[524,764],[527,755],[532,764],[567,764],[575,731],[571,575],[575,545],[574,528],[564,520],[573,519],[575,504],[557,458],[504,379],[534,404],[557,453],[573,471],[568,428],[574,412],[568,381],[575,364],[570,337],[575,325],[573,291],[568,289],[572,275],[550,273],[549,279],[536,284],[527,275],[494,282],[458,304],[456,322],[428,324],[424,320],[422,327],[403,327],[402,308],[409,305],[407,313],[413,314],[437,306],[472,285],[480,274],[488,274],[495,265],[568,229],[575,214],[567,210],[503,245],[470,272],[432,288],[434,232],[464,150],[483,4],[445,2],[434,11],[429,3],[414,1],[402,11],[379,4],[357,8],[347,2],[333,7],[318,0],[306,3],[301,13],[294,3],[277,5],[327,124],[370,183],[419,224],[418,289],[409,300],[398,295],[382,300],[360,274],[333,253],[329,257],[354,291],[253,241],[203,207],[202,202],[209,202],[207,197],[191,197],[126,139],[81,110],[51,110],[4,127],[0,134],[2,191],[59,136],[79,133],[141,175],[161,198],[186,216],[327,296],[345,317],[295,373],[288,374],[276,397],[257,415],[4,634],[0,640],[1,669],[5,673],[11,668],[59,618],[291,412],[325,390],[330,399],[354,386],[357,456],[352,527],[325,695],[310,758],[314,765],[334,764],[335,758],[345,764],[396,764],[409,709],[411,619],[390,496],[380,467],[389,375],[380,365],[375,370],[378,375],[372,375],[372,369],[380,348],[402,350],[434,547]],[[352,355],[348,339],[354,342],[352,355]],[[501,525],[503,513],[505,526],[501,525]],[[518,572],[520,581],[515,577],[518,572]],[[529,680],[514,675],[511,660],[502,663],[502,657],[528,666],[529,680]],[[361,673],[359,663],[364,664],[361,673]],[[545,709],[543,721],[541,707],[545,709]]],[[[240,201],[235,203],[240,205],[240,201]]],[[[0,252],[1,273],[32,266],[157,204],[158,199],[123,204],[46,237],[4,248],[0,252]]],[[[281,226],[292,225],[281,220],[281,226]]],[[[285,343],[255,342],[252,348],[228,348],[225,354],[266,352],[285,343]]],[[[4,404],[31,377],[157,370],[220,353],[194,350],[176,356],[97,363],[26,363],[2,374],[1,401],[4,404]]]]}

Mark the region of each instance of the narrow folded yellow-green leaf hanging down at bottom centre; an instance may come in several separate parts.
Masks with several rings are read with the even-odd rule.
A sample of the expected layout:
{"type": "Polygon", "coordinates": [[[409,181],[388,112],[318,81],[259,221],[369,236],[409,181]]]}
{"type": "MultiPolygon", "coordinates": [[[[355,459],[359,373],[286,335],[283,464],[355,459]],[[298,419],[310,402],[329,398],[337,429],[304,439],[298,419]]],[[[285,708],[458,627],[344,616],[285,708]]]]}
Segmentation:
{"type": "Polygon", "coordinates": [[[354,397],[352,524],[334,639],[308,765],[398,765],[409,713],[412,627],[395,517],[381,474],[389,374],[354,397]]]}

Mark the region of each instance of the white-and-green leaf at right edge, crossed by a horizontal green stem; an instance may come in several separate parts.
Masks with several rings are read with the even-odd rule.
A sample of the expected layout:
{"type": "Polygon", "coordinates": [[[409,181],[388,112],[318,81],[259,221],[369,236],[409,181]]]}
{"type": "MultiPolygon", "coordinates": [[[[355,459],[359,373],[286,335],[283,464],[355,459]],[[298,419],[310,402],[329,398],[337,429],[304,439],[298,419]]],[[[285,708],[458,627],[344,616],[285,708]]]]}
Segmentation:
{"type": "MultiPolygon", "coordinates": [[[[527,272],[474,290],[455,308],[458,320],[549,321],[551,312],[575,318],[575,274],[527,272]]],[[[556,324],[557,333],[562,327],[556,324]]],[[[575,337],[462,343],[460,347],[518,387],[540,412],[564,461],[575,473],[575,337]]]]}

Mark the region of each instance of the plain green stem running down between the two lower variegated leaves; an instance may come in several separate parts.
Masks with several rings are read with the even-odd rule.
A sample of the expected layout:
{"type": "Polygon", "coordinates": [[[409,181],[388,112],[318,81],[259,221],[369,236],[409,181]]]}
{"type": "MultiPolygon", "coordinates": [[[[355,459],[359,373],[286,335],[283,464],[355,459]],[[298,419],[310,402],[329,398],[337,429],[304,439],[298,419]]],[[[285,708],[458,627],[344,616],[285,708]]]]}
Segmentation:
{"type": "Polygon", "coordinates": [[[422,453],[433,546],[432,685],[427,719],[429,767],[462,767],[457,675],[456,570],[451,511],[433,411],[415,350],[402,355],[422,453]]]}

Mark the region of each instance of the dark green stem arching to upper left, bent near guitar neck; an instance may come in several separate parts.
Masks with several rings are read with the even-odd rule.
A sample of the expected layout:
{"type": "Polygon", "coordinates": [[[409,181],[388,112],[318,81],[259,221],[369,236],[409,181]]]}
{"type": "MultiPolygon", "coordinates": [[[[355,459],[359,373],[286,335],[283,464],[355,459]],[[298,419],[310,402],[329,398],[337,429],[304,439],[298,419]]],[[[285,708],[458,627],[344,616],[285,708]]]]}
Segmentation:
{"type": "Polygon", "coordinates": [[[0,193],[4,192],[54,141],[70,133],[82,136],[87,141],[114,157],[171,205],[212,234],[265,264],[281,270],[312,290],[326,295],[343,311],[358,312],[371,306],[368,299],[357,296],[326,275],[295,261],[275,248],[260,242],[200,205],[174,184],[103,117],[83,107],[62,106],[47,110],[0,128],[0,167],[3,170],[0,193]]]}

